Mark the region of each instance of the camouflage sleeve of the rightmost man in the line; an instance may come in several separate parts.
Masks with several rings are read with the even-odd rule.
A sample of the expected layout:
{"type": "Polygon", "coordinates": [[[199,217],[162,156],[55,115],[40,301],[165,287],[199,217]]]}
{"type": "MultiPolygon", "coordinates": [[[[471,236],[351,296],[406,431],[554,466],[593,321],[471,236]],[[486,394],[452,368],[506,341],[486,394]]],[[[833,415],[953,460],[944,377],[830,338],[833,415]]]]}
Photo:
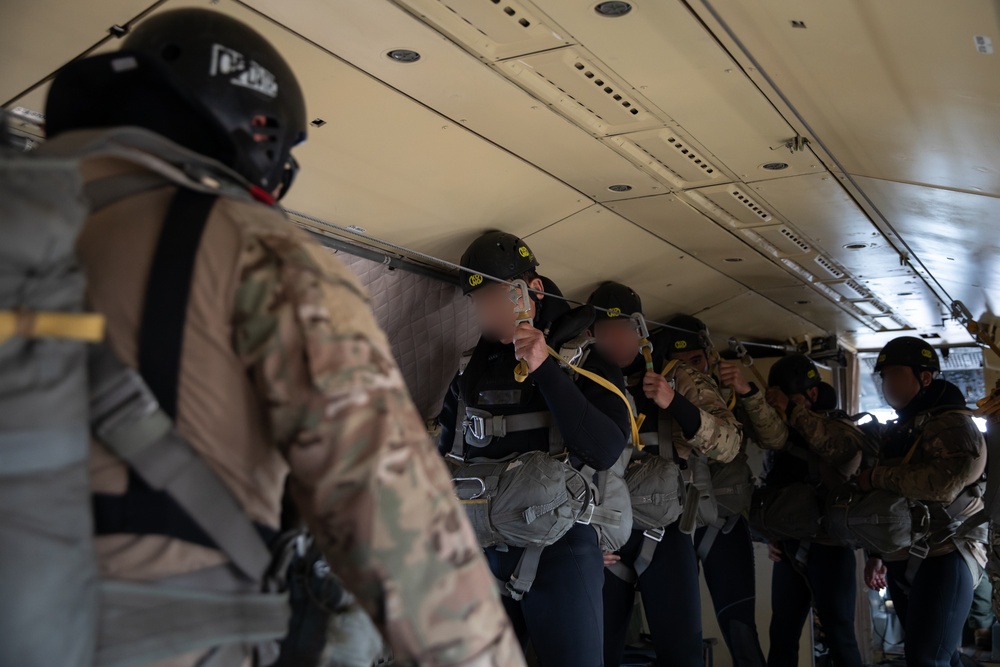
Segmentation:
{"type": "Polygon", "coordinates": [[[972,418],[943,414],[924,426],[915,461],[876,466],[872,486],[928,502],[950,503],[985,467],[986,444],[972,418]]]}

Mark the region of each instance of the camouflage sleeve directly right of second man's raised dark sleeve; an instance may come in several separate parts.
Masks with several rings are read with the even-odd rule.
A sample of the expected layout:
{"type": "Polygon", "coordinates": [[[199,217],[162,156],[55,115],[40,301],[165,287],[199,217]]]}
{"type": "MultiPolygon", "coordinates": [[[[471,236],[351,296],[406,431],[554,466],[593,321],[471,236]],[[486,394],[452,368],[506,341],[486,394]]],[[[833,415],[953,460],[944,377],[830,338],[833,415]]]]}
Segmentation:
{"type": "Polygon", "coordinates": [[[701,416],[701,426],[686,442],[710,459],[729,463],[740,453],[743,425],[726,407],[712,378],[681,366],[674,375],[675,390],[689,400],[701,416]]]}

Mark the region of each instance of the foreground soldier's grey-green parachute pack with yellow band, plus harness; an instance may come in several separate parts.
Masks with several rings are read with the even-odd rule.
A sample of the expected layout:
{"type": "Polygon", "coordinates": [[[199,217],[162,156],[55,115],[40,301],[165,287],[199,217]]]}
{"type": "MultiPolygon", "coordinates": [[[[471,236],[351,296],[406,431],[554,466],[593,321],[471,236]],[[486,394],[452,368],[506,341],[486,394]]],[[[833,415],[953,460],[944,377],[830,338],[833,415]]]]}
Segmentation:
{"type": "MultiPolygon", "coordinates": [[[[102,342],[104,318],[85,309],[75,243],[87,217],[170,186],[177,194],[165,233],[178,214],[186,224],[203,224],[219,197],[250,199],[245,182],[227,168],[137,128],[65,135],[31,154],[0,152],[2,667],[128,667],[212,648],[219,658],[213,664],[241,665],[247,646],[258,647],[257,664],[289,664],[278,662],[278,646],[299,640],[289,629],[303,618],[301,609],[290,609],[277,581],[287,577],[274,569],[291,562],[282,560],[287,554],[272,553],[139,373],[102,342]],[[82,162],[102,158],[139,169],[85,184],[82,162]],[[102,579],[93,544],[91,437],[166,492],[230,562],[157,582],[102,579]]],[[[180,289],[183,277],[169,278],[180,289]]],[[[340,593],[320,602],[330,613],[360,612],[340,593]]],[[[374,633],[381,645],[361,616],[350,621],[358,636],[367,641],[374,633]]],[[[378,656],[345,664],[367,667],[378,656]]]]}

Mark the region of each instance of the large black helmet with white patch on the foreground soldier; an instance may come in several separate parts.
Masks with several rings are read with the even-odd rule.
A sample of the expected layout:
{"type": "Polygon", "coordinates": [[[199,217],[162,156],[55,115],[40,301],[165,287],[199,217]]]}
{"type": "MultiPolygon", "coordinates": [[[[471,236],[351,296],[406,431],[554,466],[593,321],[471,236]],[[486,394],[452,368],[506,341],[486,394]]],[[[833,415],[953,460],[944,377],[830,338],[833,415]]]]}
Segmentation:
{"type": "Polygon", "coordinates": [[[291,149],[306,136],[302,90],[281,55],[236,19],[198,8],[151,16],[121,51],[64,67],[45,115],[49,136],[153,130],[267,191],[290,181],[291,149]]]}

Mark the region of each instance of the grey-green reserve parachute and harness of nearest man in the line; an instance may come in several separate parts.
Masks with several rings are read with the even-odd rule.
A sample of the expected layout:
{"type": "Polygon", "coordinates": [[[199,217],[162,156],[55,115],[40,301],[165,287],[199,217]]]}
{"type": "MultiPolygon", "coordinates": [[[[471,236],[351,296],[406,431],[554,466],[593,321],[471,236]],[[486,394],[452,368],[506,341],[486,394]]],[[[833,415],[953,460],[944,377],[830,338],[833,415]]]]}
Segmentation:
{"type": "MultiPolygon", "coordinates": [[[[527,286],[523,286],[527,294],[527,286]]],[[[579,320],[571,328],[579,331],[593,321],[588,307],[570,311],[553,324],[553,330],[566,326],[564,322],[579,320]],[[588,321],[589,320],[589,321],[588,321]],[[580,324],[582,322],[582,324],[580,324]]],[[[564,336],[550,338],[558,340],[564,336]]],[[[571,338],[560,345],[559,352],[549,349],[567,372],[583,376],[617,394],[626,404],[628,399],[612,383],[581,368],[593,339],[585,335],[571,338]]],[[[472,357],[463,354],[459,374],[472,357]]],[[[523,547],[524,555],[510,581],[502,582],[502,590],[515,600],[521,600],[534,583],[541,551],[561,539],[576,524],[594,526],[602,549],[614,551],[628,539],[632,530],[632,507],[622,472],[631,455],[626,446],[611,469],[596,472],[584,466],[574,468],[565,454],[558,427],[547,411],[515,415],[492,415],[470,408],[459,397],[458,415],[452,451],[447,457],[452,481],[459,501],[465,507],[479,543],[486,547],[523,547]],[[546,428],[549,432],[548,452],[528,452],[504,461],[467,456],[489,445],[493,438],[511,433],[546,428]]],[[[636,433],[631,405],[629,418],[636,433]]]]}

